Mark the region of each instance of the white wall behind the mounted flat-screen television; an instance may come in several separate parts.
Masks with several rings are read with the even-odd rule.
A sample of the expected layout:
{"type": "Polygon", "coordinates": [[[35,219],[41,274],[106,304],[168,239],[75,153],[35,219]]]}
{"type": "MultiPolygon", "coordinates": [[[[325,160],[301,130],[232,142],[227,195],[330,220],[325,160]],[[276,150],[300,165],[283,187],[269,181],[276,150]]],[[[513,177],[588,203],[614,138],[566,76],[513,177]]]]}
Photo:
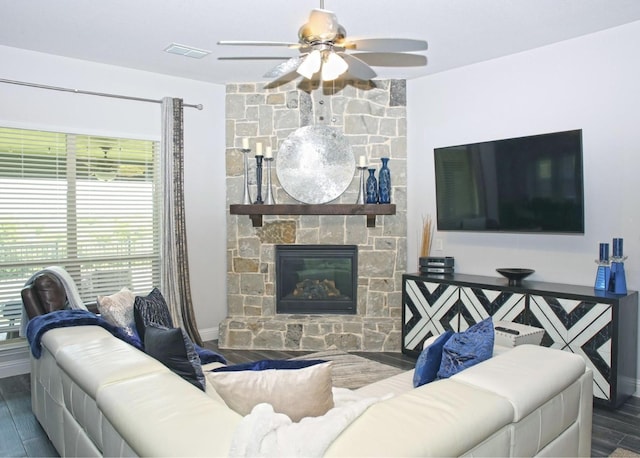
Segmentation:
{"type": "Polygon", "coordinates": [[[435,147],[583,129],[584,235],[436,232],[444,249],[432,254],[454,256],[460,273],[530,267],[531,279],[590,286],[598,244],[623,237],[627,287],[640,288],[638,43],[635,22],[409,81],[408,270],[423,215],[436,216],[435,147]]]}

